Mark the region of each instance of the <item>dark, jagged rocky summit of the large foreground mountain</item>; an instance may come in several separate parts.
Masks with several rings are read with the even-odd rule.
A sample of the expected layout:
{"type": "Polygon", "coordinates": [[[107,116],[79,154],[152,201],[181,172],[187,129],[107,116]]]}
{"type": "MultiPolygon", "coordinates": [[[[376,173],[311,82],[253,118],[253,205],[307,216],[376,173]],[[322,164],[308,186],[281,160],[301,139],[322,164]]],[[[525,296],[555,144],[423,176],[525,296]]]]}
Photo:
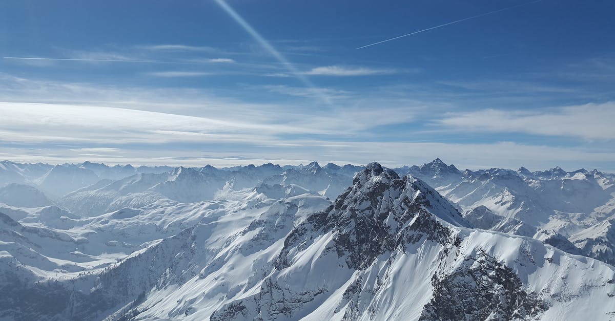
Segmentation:
{"type": "MultiPolygon", "coordinates": [[[[345,253],[347,267],[363,269],[378,255],[403,247],[408,238],[420,239],[427,234],[438,242],[446,242],[442,238],[448,237],[448,230],[437,218],[456,226],[469,226],[426,183],[410,175],[400,178],[393,170],[373,162],[355,175],[353,185],[336,199],[335,205],[309,216],[285,244],[333,232],[336,251],[340,256],[345,253]],[[420,236],[416,231],[420,231],[420,236]]],[[[282,250],[277,260],[279,269],[288,266],[286,255],[282,250]]]]}

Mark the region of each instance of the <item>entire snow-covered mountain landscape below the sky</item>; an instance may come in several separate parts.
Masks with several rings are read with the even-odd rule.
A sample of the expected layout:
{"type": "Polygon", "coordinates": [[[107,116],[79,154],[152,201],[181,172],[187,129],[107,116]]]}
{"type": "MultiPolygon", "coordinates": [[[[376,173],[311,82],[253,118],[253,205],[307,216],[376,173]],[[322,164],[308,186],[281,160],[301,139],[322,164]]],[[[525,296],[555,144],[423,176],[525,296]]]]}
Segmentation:
{"type": "Polygon", "coordinates": [[[608,319],[614,186],[440,159],[4,161],[0,319],[608,319]]]}

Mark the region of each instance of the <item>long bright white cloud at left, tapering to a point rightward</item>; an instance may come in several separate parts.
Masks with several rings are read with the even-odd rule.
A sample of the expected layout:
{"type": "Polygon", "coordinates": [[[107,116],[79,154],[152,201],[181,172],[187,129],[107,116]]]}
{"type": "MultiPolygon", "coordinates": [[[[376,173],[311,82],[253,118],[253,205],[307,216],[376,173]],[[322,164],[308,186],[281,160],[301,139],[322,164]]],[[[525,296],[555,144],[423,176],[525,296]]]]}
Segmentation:
{"type": "Polygon", "coordinates": [[[304,132],[295,126],[103,106],[0,103],[0,114],[0,140],[23,143],[218,143],[304,132]]]}

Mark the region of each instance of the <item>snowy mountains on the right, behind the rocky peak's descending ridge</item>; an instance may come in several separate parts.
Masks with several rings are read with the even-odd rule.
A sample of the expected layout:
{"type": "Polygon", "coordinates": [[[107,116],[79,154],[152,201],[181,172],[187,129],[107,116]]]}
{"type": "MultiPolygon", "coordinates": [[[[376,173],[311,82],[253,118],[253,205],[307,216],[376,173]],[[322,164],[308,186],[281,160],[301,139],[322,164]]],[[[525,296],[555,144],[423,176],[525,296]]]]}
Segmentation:
{"type": "Polygon", "coordinates": [[[530,172],[490,168],[459,172],[440,159],[408,172],[426,180],[475,227],[530,236],[571,253],[613,263],[613,175],[560,167],[530,172]],[[600,244],[600,245],[598,245],[600,244]]]}

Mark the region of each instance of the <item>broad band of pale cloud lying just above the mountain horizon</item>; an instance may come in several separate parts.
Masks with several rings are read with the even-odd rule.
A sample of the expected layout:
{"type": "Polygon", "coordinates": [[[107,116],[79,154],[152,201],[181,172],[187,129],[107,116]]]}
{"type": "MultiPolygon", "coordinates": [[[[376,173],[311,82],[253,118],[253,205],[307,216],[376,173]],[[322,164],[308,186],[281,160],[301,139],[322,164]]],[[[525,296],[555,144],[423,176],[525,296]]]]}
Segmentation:
{"type": "MultiPolygon", "coordinates": [[[[371,108],[352,104],[353,92],[326,92],[338,106],[328,111],[288,109],[288,103],[258,104],[211,93],[2,78],[0,159],[62,163],[216,166],[311,160],[387,166],[422,164],[435,157],[462,168],[574,168],[578,164],[611,170],[615,153],[595,146],[548,146],[493,140],[463,140],[477,135],[518,132],[544,137],[609,141],[613,102],[537,111],[486,109],[434,113],[437,103],[400,98],[371,108]],[[18,83],[18,89],[15,87],[18,83]],[[52,98],[53,97],[53,98],[52,98]],[[26,100],[29,102],[19,101],[26,100]],[[53,102],[55,100],[55,102],[53,102]],[[42,103],[47,101],[47,103],[42,103]],[[69,103],[72,102],[72,103],[69,103]],[[415,127],[415,137],[408,130],[415,127]],[[387,135],[382,135],[387,129],[387,135]],[[426,134],[418,135],[421,131],[426,134]],[[446,133],[449,141],[424,139],[446,133]],[[454,141],[459,137],[461,141],[454,141]]],[[[263,86],[303,100],[305,88],[263,86]]],[[[324,89],[322,89],[324,90],[324,89]]],[[[379,95],[380,93],[378,93],[379,95]]],[[[375,99],[373,101],[385,101],[375,99]]],[[[298,103],[293,100],[293,103],[298,103]]],[[[299,105],[301,106],[301,105],[299,105]]],[[[305,105],[305,106],[309,106],[305,105]]]]}

